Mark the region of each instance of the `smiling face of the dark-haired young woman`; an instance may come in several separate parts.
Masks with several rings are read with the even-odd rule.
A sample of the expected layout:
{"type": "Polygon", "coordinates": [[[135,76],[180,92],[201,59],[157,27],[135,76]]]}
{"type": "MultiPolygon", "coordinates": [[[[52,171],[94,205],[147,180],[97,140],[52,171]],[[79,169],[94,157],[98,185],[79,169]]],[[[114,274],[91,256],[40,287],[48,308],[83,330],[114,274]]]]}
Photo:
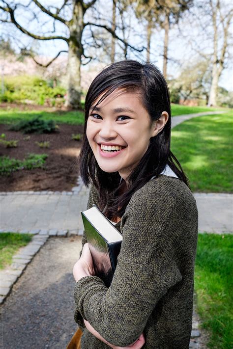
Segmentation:
{"type": "Polygon", "coordinates": [[[103,171],[118,171],[124,180],[146,153],[150,137],[157,133],[136,92],[117,89],[89,110],[87,139],[95,159],[103,171]]]}

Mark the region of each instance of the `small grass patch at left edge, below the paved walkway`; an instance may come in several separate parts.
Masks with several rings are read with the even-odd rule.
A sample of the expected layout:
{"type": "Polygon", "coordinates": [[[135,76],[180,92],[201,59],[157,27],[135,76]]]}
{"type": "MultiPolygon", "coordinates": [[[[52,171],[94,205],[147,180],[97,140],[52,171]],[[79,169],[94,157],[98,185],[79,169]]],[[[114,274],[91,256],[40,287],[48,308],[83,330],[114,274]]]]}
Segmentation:
{"type": "Polygon", "coordinates": [[[17,233],[0,233],[0,269],[12,262],[12,256],[18,249],[31,241],[32,235],[17,233]]]}

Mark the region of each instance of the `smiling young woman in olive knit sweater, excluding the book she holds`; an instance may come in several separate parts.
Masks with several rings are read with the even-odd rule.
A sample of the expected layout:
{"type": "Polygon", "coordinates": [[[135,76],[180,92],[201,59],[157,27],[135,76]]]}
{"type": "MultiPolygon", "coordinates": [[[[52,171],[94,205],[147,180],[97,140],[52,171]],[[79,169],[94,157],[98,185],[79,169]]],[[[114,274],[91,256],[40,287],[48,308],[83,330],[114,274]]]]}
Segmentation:
{"type": "Polygon", "coordinates": [[[94,275],[86,236],[73,269],[81,349],[189,348],[198,213],[170,150],[167,83],[152,64],[113,63],[85,104],[81,176],[123,235],[112,284],[94,275]]]}

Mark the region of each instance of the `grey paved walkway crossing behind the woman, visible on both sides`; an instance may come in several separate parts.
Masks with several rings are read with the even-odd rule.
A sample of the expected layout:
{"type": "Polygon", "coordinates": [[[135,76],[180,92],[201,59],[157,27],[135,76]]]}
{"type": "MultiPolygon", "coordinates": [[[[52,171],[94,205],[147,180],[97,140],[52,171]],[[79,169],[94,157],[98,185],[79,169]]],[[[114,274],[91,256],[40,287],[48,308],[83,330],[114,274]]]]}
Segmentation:
{"type": "MultiPolygon", "coordinates": [[[[195,193],[199,211],[199,231],[233,232],[233,194],[195,193]]],[[[79,193],[0,194],[0,230],[63,235],[82,234],[80,210],[87,208],[88,190],[79,193]]]]}

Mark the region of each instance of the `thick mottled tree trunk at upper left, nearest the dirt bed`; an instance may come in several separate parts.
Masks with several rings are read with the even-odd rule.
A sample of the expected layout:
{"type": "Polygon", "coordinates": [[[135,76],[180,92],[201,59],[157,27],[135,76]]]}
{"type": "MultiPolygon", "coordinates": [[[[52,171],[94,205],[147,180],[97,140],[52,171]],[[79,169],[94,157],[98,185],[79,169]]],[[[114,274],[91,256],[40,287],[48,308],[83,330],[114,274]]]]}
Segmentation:
{"type": "Polygon", "coordinates": [[[73,17],[69,23],[69,54],[67,64],[68,90],[65,107],[72,109],[81,108],[81,57],[83,54],[84,9],[77,0],[74,1],[73,17]]]}

